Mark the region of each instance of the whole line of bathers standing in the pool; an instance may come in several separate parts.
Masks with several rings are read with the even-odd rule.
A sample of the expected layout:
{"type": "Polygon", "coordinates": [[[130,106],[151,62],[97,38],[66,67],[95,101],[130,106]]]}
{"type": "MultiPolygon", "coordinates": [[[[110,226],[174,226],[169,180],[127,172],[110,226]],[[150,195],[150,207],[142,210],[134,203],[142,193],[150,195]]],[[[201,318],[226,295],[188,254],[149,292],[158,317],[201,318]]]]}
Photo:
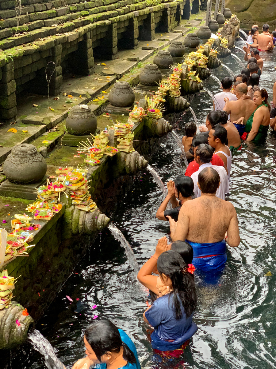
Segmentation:
{"type": "MultiPolygon", "coordinates": [[[[240,243],[238,218],[230,201],[232,153],[250,142],[262,145],[276,123],[276,82],[272,109],[261,87],[260,51],[273,49],[276,31],[254,25],[244,46],[247,68],[233,79],[225,76],[204,126],[185,125],[182,143],[188,160],[184,176],[167,183],[167,196],[156,217],[169,221],[170,238],[161,237],[155,253],[142,266],[138,280],[149,290],[144,321],[151,328],[156,355],[177,358],[197,331],[194,273],[218,276],[227,261],[227,246],[240,243]]],[[[110,320],[95,320],[84,334],[86,357],[72,369],[140,369],[136,348],[110,320]]]]}

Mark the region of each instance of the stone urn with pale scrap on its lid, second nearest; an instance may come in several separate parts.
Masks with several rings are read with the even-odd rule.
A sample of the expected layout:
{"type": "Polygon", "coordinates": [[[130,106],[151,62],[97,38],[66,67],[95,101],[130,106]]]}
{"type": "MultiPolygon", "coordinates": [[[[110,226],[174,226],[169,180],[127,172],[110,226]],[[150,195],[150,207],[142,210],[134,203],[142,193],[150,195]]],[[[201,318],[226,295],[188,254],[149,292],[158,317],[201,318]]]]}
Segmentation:
{"type": "Polygon", "coordinates": [[[87,105],[75,105],[66,118],[66,129],[74,136],[93,134],[97,129],[97,118],[87,105]]]}

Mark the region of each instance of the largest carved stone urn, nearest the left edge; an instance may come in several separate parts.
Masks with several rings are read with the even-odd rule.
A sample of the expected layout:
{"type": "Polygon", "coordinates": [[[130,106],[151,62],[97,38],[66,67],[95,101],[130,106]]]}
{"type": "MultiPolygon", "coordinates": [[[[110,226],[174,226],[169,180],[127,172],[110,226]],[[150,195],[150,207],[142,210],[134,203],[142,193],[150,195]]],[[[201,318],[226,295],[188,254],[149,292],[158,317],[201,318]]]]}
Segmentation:
{"type": "Polygon", "coordinates": [[[31,144],[15,145],[3,164],[10,182],[31,184],[39,182],[46,174],[47,164],[37,148],[31,144]]]}

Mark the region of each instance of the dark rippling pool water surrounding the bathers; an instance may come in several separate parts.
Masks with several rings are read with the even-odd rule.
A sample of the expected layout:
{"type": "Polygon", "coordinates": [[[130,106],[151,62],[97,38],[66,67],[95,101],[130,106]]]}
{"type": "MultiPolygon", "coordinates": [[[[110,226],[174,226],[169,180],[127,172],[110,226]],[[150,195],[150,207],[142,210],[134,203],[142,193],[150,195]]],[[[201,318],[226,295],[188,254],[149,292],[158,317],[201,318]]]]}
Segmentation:
{"type": "MultiPolygon", "coordinates": [[[[241,51],[234,53],[243,58],[241,51]]],[[[275,55],[262,56],[265,68],[260,85],[267,88],[271,101],[275,55]]],[[[223,63],[235,74],[240,73],[233,58],[223,63]]],[[[227,75],[222,67],[212,73],[219,79],[227,75]]],[[[204,84],[213,93],[220,91],[213,79],[204,84]]],[[[191,107],[199,122],[205,123],[212,101],[201,92],[191,107]]],[[[191,120],[190,111],[186,111],[175,127],[180,137],[184,124],[191,120]]],[[[194,321],[198,331],[183,357],[166,364],[158,363],[153,356],[148,325],[142,317],[145,289],[135,279],[123,249],[106,230],[37,325],[67,368],[84,356],[82,335],[95,315],[110,318],[130,335],[144,368],[276,368],[275,149],[275,138],[269,135],[265,146],[248,145],[233,155],[229,201],[238,213],[241,243],[229,250],[218,283],[208,284],[196,276],[199,302],[194,321]],[[265,276],[269,271],[272,276],[265,276]],[[66,295],[74,302],[70,303],[66,295]]],[[[166,182],[185,173],[179,156],[180,149],[168,134],[150,164],[166,182]]],[[[169,232],[169,224],[155,218],[162,200],[159,187],[145,170],[112,219],[132,246],[140,266],[154,253],[158,238],[169,232]]],[[[39,354],[24,350],[25,354],[15,355],[12,368],[45,367],[39,354]]]]}

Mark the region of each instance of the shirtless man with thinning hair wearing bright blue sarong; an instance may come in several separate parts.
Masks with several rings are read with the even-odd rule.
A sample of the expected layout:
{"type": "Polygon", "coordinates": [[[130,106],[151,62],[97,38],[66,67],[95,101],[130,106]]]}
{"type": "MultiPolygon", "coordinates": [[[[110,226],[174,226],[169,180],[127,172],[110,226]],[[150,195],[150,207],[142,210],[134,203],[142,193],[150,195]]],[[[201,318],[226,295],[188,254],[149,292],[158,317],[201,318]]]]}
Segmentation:
{"type": "Polygon", "coordinates": [[[216,170],[204,168],[198,176],[201,197],[183,204],[177,222],[169,219],[171,239],[186,240],[192,246],[192,263],[199,270],[223,267],[226,242],[230,247],[240,243],[236,210],[229,201],[216,197],[219,184],[216,170]]]}

